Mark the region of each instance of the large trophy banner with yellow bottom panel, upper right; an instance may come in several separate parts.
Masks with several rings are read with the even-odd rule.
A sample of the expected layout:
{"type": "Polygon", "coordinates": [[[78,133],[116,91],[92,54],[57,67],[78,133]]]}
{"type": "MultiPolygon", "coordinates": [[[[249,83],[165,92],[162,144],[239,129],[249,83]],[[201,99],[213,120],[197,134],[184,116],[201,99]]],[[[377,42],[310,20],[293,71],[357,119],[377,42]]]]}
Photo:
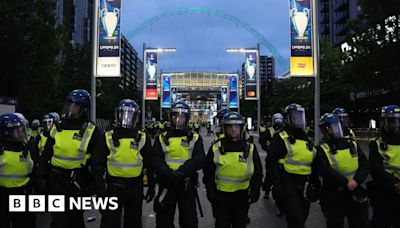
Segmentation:
{"type": "Polygon", "coordinates": [[[290,0],[290,75],[315,76],[310,0],[290,0]]]}

